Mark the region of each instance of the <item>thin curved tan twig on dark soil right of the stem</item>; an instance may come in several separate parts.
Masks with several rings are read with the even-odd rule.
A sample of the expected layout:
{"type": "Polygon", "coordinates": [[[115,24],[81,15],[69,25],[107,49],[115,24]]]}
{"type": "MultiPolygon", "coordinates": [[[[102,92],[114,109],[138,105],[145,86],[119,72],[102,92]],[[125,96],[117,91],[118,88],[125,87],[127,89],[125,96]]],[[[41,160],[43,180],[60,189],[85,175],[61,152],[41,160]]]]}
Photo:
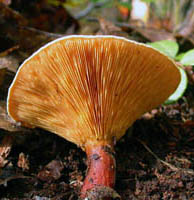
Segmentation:
{"type": "Polygon", "coordinates": [[[140,142],[140,143],[145,147],[145,149],[146,149],[149,153],[151,153],[151,154],[154,156],[154,158],[155,158],[156,160],[159,160],[162,164],[164,164],[165,166],[169,167],[172,171],[175,171],[175,172],[177,172],[177,171],[183,171],[183,172],[185,172],[185,173],[194,175],[194,171],[191,170],[191,169],[177,168],[177,167],[175,167],[174,165],[171,165],[170,163],[167,163],[167,162],[165,162],[164,160],[160,159],[160,158],[145,144],[145,142],[143,142],[143,141],[141,141],[141,140],[139,140],[139,139],[137,139],[137,138],[136,138],[136,140],[137,140],[138,142],[140,142]]]}

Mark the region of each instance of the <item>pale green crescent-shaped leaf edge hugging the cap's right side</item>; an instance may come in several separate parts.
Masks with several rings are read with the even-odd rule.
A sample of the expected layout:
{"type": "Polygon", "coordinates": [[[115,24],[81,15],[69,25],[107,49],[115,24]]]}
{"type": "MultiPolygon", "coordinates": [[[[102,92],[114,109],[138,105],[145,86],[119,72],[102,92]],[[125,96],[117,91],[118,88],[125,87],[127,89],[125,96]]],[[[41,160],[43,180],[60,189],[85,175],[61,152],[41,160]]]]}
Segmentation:
{"type": "Polygon", "coordinates": [[[187,78],[187,74],[185,72],[184,69],[179,68],[180,74],[181,74],[181,81],[179,83],[178,88],[175,90],[175,92],[168,98],[167,101],[165,101],[164,104],[172,104],[174,102],[176,102],[179,98],[181,98],[187,88],[187,84],[188,84],[188,78],[187,78]]]}

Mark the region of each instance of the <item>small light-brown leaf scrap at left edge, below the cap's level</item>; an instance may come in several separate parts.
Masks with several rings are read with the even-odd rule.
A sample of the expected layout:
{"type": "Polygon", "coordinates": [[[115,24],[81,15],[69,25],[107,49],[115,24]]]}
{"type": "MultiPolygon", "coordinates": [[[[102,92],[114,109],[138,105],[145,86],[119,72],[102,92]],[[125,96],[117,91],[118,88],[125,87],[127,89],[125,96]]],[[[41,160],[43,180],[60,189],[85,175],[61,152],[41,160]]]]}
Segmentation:
{"type": "Polygon", "coordinates": [[[0,143],[0,168],[7,164],[7,156],[11,151],[11,146],[13,143],[13,137],[11,135],[5,135],[0,143]]]}

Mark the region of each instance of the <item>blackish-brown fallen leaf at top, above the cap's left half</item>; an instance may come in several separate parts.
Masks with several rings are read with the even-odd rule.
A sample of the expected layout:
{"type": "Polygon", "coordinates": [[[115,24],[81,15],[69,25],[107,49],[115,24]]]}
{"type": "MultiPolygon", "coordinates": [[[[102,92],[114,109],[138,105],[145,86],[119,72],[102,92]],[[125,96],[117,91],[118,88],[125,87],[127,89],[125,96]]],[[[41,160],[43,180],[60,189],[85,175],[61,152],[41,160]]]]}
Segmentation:
{"type": "Polygon", "coordinates": [[[28,26],[48,32],[66,33],[67,29],[79,27],[78,21],[74,19],[64,7],[64,2],[51,3],[50,0],[38,0],[26,3],[26,1],[13,2],[13,8],[19,9],[23,17],[28,20],[28,26]]]}

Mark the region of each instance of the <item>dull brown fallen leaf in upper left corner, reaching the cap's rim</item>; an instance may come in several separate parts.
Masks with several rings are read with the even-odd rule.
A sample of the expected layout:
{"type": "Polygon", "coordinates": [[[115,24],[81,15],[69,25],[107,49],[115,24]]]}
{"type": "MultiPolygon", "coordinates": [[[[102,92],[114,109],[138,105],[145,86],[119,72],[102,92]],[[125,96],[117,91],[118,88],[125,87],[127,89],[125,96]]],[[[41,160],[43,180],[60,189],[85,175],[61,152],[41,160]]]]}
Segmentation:
{"type": "MultiPolygon", "coordinates": [[[[1,2],[0,13],[1,35],[5,35],[19,44],[19,52],[24,54],[22,55],[23,59],[31,55],[40,46],[61,36],[28,27],[29,21],[25,17],[1,2]]],[[[18,45],[16,47],[18,48],[18,45]]]]}

